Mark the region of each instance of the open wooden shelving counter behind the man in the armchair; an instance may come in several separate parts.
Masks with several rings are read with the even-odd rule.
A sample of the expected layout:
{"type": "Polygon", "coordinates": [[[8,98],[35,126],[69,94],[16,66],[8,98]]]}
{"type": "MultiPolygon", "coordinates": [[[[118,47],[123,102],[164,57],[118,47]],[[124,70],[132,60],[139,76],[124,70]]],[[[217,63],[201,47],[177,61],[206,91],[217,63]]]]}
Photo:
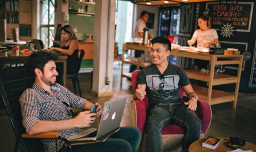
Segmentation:
{"type": "MultiPolygon", "coordinates": [[[[151,47],[143,46],[139,44],[126,43],[124,44],[123,55],[124,55],[124,51],[127,49],[150,51],[151,47]]],[[[213,55],[213,54],[198,53],[193,51],[182,51],[178,49],[171,50],[171,55],[188,57],[192,59],[207,60],[211,65],[211,69],[215,69],[215,65],[228,65],[228,64],[238,65],[236,76],[226,75],[222,73],[215,73],[214,70],[211,70],[209,73],[207,73],[207,72],[185,69],[185,72],[190,79],[204,81],[208,85],[208,88],[192,85],[199,99],[205,100],[209,102],[209,104],[211,105],[225,103],[225,102],[233,102],[233,108],[234,109],[236,108],[240,76],[242,71],[243,55],[230,55],[230,54],[213,55]],[[236,84],[234,93],[217,91],[212,89],[214,85],[223,85],[223,84],[231,84],[231,83],[236,84]]],[[[143,64],[140,64],[140,63],[133,63],[131,61],[124,60],[124,56],[123,56],[122,65],[121,65],[121,84],[123,83],[122,81],[123,77],[131,78],[131,73],[123,73],[124,64],[135,64],[135,65],[143,66],[143,64]]]]}

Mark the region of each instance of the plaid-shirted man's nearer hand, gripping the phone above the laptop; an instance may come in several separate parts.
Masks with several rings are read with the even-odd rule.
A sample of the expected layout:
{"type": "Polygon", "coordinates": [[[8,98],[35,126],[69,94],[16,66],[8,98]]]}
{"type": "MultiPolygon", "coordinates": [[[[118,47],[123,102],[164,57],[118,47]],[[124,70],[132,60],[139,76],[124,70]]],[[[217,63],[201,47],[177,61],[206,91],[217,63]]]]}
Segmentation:
{"type": "MultiPolygon", "coordinates": [[[[98,109],[98,108],[97,108],[98,109]]],[[[75,119],[75,126],[78,128],[82,127],[90,127],[91,124],[94,123],[96,119],[96,113],[91,113],[90,111],[82,111],[80,112],[74,119],[75,119]]]]}

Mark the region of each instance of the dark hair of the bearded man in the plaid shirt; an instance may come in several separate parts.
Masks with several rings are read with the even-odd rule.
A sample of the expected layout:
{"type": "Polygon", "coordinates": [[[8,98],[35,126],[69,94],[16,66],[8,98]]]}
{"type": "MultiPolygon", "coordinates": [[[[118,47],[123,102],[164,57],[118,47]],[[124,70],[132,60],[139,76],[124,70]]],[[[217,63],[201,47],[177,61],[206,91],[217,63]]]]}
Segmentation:
{"type": "Polygon", "coordinates": [[[44,65],[48,63],[48,61],[55,61],[57,59],[57,55],[52,52],[38,51],[31,54],[28,57],[28,61],[26,61],[26,65],[28,67],[29,75],[35,78],[35,69],[38,68],[41,71],[44,71],[44,65]]]}

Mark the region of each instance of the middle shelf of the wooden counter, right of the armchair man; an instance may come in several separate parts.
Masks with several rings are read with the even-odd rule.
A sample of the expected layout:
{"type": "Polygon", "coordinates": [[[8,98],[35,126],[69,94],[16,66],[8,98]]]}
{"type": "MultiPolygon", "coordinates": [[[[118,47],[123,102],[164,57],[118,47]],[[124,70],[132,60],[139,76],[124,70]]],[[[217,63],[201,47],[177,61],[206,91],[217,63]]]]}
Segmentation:
{"type": "MultiPolygon", "coordinates": [[[[194,69],[184,69],[184,71],[186,72],[186,74],[190,79],[200,80],[207,83],[209,82],[210,73],[200,72],[194,69]]],[[[230,83],[237,83],[237,82],[238,82],[238,77],[217,73],[213,75],[212,85],[230,84],[230,83]]]]}

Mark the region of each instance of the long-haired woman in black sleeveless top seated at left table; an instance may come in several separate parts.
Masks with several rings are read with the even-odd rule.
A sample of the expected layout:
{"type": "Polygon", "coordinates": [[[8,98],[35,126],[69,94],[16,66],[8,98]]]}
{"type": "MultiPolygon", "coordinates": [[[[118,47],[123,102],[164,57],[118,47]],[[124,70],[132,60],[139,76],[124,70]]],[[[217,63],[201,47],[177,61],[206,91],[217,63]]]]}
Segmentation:
{"type": "MultiPolygon", "coordinates": [[[[74,67],[79,66],[79,59],[78,59],[78,40],[75,36],[74,30],[70,25],[64,25],[61,29],[63,40],[65,44],[61,48],[51,47],[48,51],[56,51],[62,54],[67,55],[67,75],[72,75],[75,73],[74,67]]],[[[59,72],[59,80],[58,83],[63,84],[63,69],[62,66],[56,63],[59,72]]]]}

